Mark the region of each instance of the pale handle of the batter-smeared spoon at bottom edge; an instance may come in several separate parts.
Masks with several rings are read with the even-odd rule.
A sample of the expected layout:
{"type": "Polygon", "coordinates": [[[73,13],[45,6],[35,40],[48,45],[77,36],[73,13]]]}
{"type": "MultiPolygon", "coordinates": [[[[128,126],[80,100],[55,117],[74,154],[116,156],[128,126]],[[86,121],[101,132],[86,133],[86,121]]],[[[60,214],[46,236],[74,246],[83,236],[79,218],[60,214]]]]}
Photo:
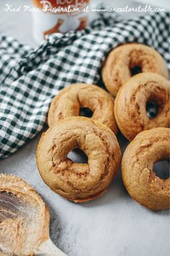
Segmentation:
{"type": "Polygon", "coordinates": [[[36,256],[67,256],[61,249],[53,244],[51,239],[49,238],[45,242],[40,244],[40,247],[35,251],[36,256]]]}

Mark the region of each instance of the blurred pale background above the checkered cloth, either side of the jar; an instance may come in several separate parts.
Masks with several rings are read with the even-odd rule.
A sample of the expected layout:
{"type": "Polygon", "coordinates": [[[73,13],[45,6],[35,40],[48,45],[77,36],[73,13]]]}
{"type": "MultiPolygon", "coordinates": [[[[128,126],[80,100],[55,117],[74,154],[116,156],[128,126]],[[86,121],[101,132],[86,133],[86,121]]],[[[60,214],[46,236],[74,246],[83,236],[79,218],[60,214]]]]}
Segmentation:
{"type": "MultiPolygon", "coordinates": [[[[94,4],[99,4],[101,0],[91,0],[94,4]]],[[[161,6],[169,9],[169,0],[141,0],[141,1],[130,1],[130,0],[104,0],[105,5],[112,7],[143,7],[148,5],[161,6]]],[[[19,7],[19,5],[30,5],[31,0],[3,0],[0,1],[0,31],[6,35],[12,35],[14,38],[26,43],[30,46],[37,46],[34,38],[32,37],[32,13],[31,12],[5,12],[5,4],[12,4],[13,7],[19,7]]],[[[142,12],[121,12],[121,15],[125,17],[134,17],[135,15],[141,15],[142,12]]],[[[144,14],[147,14],[144,13],[144,14]]],[[[94,15],[94,13],[93,13],[94,15]]]]}

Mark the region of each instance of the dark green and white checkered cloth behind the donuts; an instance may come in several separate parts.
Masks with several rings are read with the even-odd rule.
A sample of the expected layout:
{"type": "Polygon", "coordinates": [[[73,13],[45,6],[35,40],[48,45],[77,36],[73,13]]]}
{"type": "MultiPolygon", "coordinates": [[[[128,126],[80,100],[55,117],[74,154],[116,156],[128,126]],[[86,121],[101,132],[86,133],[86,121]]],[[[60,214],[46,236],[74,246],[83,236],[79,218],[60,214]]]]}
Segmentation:
{"type": "Polygon", "coordinates": [[[168,63],[169,24],[167,12],[130,20],[105,13],[90,28],[50,35],[35,50],[0,35],[0,158],[40,132],[58,90],[73,82],[97,84],[112,48],[133,41],[145,43],[168,63]]]}

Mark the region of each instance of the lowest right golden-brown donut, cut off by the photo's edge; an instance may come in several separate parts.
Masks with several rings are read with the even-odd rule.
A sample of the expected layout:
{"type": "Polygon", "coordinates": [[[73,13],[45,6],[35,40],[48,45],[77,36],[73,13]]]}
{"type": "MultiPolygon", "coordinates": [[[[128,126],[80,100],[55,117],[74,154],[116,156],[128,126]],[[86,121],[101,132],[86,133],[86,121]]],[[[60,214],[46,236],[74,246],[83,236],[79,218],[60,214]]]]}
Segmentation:
{"type": "Polygon", "coordinates": [[[169,208],[170,179],[160,179],[153,164],[169,159],[170,129],[140,132],[122,157],[122,180],[133,199],[151,210],[169,208]]]}

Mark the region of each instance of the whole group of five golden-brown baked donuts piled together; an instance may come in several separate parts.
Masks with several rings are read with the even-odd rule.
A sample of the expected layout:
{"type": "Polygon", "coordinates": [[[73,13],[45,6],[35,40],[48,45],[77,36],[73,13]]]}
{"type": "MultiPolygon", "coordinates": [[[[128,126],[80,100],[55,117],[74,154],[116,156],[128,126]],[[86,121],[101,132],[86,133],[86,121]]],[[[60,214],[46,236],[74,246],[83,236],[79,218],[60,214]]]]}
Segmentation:
{"type": "Polygon", "coordinates": [[[109,93],[79,83],[53,98],[49,129],[37,146],[42,179],[74,202],[103,195],[120,167],[119,128],[130,140],[122,156],[122,180],[129,194],[152,210],[169,208],[170,179],[153,172],[154,163],[169,159],[170,85],[164,59],[138,43],[118,46],[104,61],[102,80],[109,93]],[[80,116],[82,108],[90,109],[90,118],[80,116]],[[87,163],[68,158],[76,148],[86,153],[87,163]]]}

